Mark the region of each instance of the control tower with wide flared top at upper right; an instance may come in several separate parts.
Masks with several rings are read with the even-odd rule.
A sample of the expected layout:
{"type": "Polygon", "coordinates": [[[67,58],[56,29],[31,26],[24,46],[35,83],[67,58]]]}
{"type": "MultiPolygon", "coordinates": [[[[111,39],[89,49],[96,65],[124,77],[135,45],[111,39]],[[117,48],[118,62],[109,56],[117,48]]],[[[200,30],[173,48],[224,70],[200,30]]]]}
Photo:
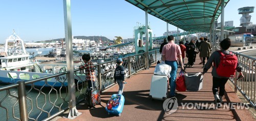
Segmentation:
{"type": "Polygon", "coordinates": [[[240,26],[247,27],[250,24],[251,15],[249,13],[253,13],[254,7],[243,7],[238,9],[238,14],[242,14],[240,18],[240,26]]]}

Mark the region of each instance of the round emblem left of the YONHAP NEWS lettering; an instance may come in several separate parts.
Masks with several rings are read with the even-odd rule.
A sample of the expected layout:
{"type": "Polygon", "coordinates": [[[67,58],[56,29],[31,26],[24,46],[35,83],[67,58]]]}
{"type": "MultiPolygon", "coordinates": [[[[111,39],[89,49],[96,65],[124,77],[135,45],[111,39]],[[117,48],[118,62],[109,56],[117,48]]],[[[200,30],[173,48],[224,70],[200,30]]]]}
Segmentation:
{"type": "Polygon", "coordinates": [[[173,98],[168,98],[163,102],[163,110],[164,113],[169,115],[172,114],[174,112],[176,112],[178,109],[178,101],[177,98],[173,97],[173,98]]]}

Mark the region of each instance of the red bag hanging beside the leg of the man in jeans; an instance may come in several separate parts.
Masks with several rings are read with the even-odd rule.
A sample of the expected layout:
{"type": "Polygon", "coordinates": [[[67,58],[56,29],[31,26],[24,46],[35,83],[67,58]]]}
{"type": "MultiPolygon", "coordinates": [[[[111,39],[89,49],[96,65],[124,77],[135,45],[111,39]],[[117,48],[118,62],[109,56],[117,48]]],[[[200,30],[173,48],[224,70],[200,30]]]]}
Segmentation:
{"type": "Polygon", "coordinates": [[[186,91],[185,76],[183,70],[180,71],[179,77],[176,79],[176,90],[179,92],[186,91]]]}

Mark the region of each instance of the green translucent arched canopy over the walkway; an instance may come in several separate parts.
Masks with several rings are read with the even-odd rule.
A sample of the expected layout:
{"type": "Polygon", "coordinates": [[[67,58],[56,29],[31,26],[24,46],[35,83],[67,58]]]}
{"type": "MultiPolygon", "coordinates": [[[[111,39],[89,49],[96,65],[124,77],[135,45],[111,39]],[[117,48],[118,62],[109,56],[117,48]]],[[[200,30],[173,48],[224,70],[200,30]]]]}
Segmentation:
{"type": "MultiPolygon", "coordinates": [[[[221,14],[219,0],[125,0],[169,24],[188,32],[209,33],[221,14]]],[[[224,6],[229,0],[224,0],[224,6]]]]}

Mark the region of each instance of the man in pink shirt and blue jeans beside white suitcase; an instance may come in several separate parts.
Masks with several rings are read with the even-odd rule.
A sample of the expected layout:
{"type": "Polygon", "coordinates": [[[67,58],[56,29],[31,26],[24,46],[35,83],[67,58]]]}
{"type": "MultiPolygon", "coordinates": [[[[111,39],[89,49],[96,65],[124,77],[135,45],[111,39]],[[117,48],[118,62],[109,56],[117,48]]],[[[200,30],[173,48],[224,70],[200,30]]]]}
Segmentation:
{"type": "Polygon", "coordinates": [[[175,97],[175,89],[176,89],[176,73],[178,70],[178,59],[181,63],[181,69],[183,68],[182,61],[182,53],[180,50],[180,46],[174,43],[174,36],[167,37],[168,44],[163,46],[162,51],[162,61],[165,64],[170,65],[172,67],[172,71],[170,72],[169,84],[170,84],[170,97],[175,97]]]}

